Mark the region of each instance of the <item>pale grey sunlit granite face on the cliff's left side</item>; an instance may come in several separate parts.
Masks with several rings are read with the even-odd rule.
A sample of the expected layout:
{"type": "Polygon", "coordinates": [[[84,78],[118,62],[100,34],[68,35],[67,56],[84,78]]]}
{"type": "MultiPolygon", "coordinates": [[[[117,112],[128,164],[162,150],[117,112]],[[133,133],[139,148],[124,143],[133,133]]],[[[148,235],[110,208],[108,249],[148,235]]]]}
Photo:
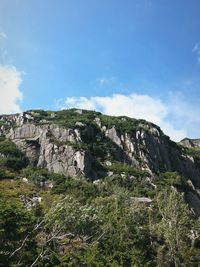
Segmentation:
{"type": "Polygon", "coordinates": [[[80,142],[77,129],[65,129],[55,124],[25,123],[11,128],[6,137],[26,154],[33,166],[69,175],[91,174],[90,155],[72,146],[80,142]]]}

